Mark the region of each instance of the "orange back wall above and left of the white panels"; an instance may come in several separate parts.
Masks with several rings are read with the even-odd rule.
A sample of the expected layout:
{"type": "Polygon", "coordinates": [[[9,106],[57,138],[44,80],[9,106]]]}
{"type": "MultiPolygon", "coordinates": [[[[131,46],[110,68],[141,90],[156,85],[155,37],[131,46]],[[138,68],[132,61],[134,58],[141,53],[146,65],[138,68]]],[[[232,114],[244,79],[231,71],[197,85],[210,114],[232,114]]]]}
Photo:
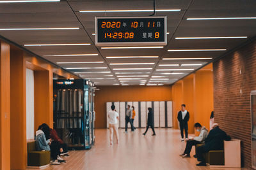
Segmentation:
{"type": "Polygon", "coordinates": [[[172,101],[170,86],[100,86],[95,91],[96,128],[106,128],[109,101],[172,101]]]}

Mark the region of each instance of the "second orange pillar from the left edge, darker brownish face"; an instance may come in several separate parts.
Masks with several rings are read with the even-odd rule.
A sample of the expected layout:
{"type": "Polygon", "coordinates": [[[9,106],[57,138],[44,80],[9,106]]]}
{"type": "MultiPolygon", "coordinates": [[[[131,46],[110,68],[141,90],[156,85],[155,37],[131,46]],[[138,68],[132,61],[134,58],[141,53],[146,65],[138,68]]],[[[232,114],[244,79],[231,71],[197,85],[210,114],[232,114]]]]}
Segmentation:
{"type": "Polygon", "coordinates": [[[26,169],[26,64],[23,52],[11,47],[11,169],[26,169]]]}

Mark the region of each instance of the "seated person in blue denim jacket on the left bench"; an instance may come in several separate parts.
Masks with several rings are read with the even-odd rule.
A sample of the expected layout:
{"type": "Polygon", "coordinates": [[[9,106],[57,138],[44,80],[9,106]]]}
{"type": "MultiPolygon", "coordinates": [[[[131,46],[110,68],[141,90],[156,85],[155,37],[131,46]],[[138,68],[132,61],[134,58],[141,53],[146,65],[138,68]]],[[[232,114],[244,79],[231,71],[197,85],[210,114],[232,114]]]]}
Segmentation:
{"type": "Polygon", "coordinates": [[[38,131],[36,131],[36,150],[37,151],[49,151],[51,152],[52,157],[52,165],[60,165],[58,161],[58,146],[54,143],[52,144],[51,139],[45,138],[45,133],[43,131],[43,126],[40,125],[38,127],[38,131]]]}

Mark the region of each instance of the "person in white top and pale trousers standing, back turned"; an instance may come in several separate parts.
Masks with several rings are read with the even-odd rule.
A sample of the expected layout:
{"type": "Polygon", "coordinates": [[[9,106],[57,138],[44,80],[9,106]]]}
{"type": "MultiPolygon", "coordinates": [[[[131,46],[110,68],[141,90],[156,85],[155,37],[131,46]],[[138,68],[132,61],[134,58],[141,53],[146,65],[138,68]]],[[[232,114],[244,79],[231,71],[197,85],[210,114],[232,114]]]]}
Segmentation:
{"type": "Polygon", "coordinates": [[[111,106],[111,111],[108,112],[108,119],[109,119],[109,131],[110,131],[110,145],[113,144],[113,132],[116,136],[116,143],[118,144],[118,120],[119,115],[115,111],[115,105],[111,106]]]}

